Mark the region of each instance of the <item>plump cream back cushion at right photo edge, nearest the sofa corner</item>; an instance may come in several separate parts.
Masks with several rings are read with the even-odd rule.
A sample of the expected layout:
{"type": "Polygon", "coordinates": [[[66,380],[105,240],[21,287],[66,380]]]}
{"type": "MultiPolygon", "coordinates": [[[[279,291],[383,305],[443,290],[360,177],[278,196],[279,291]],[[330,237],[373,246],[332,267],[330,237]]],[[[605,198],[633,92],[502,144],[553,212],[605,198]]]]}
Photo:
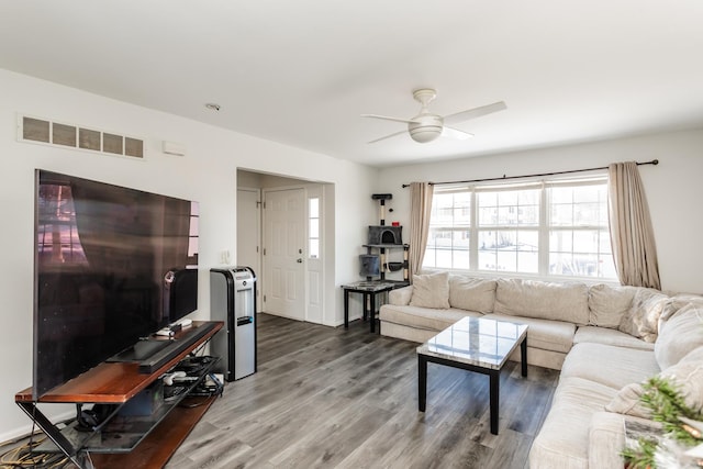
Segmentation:
{"type": "Polygon", "coordinates": [[[655,343],[655,356],[665,369],[699,346],[703,346],[703,306],[690,303],[662,324],[655,343]]]}

